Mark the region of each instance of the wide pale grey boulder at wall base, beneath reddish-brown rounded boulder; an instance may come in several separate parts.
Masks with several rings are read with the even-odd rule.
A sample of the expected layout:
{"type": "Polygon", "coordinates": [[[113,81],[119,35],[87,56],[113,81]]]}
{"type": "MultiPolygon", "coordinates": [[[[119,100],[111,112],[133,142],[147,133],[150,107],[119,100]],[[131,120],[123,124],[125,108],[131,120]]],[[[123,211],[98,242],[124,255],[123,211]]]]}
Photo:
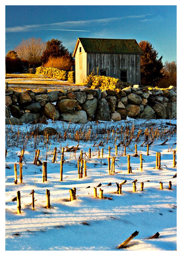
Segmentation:
{"type": "Polygon", "coordinates": [[[60,114],[60,120],[71,122],[74,124],[86,124],[87,114],[84,110],[75,110],[72,113],[62,113],[60,114]]]}

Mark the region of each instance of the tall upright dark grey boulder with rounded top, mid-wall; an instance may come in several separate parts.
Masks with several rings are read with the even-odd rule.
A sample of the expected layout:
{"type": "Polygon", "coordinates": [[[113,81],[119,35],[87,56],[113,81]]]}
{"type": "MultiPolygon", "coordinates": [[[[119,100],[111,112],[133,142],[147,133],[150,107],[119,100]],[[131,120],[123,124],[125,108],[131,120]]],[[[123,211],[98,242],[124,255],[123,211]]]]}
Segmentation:
{"type": "Polygon", "coordinates": [[[111,121],[111,117],[109,114],[109,105],[107,100],[104,98],[98,100],[95,119],[101,121],[111,121]]]}

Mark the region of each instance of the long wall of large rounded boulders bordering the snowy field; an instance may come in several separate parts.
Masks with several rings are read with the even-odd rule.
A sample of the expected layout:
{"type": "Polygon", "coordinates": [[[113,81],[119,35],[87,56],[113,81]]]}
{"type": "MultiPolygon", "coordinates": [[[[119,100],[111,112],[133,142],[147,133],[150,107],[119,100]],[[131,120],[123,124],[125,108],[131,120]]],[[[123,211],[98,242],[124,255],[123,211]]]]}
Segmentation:
{"type": "Polygon", "coordinates": [[[41,117],[85,124],[88,120],[120,121],[131,118],[176,118],[176,91],[140,88],[123,89],[78,88],[48,92],[6,90],[6,124],[29,123],[41,117]]]}

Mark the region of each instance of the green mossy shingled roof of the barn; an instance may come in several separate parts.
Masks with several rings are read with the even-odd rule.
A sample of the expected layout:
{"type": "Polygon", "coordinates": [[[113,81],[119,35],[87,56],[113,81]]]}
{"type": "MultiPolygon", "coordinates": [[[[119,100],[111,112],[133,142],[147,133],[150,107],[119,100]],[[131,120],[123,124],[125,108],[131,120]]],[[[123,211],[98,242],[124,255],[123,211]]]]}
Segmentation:
{"type": "Polygon", "coordinates": [[[78,38],[85,52],[143,54],[135,39],[78,38]]]}

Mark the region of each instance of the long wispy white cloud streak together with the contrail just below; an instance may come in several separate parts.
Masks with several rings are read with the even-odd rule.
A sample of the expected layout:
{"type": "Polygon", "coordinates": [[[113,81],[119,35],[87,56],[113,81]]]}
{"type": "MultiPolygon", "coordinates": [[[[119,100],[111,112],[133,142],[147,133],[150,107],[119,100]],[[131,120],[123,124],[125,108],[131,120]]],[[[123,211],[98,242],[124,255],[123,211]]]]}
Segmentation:
{"type": "Polygon", "coordinates": [[[89,30],[74,30],[69,28],[74,28],[78,26],[86,26],[89,24],[97,24],[97,23],[108,23],[118,20],[124,20],[124,19],[142,19],[146,18],[151,14],[144,14],[144,15],[130,15],[130,16],[123,16],[123,17],[113,17],[113,18],[106,18],[106,19],[95,19],[95,20],[76,20],[76,21],[65,21],[65,22],[57,22],[57,23],[50,23],[50,24],[39,24],[39,25],[23,25],[23,26],[16,26],[16,27],[10,27],[6,28],[7,33],[13,33],[13,32],[27,32],[32,29],[44,29],[44,30],[64,30],[64,31],[83,31],[83,32],[89,32],[89,30]],[[43,28],[44,26],[50,27],[50,28],[43,28]],[[59,27],[59,28],[56,28],[59,27]],[[61,29],[65,28],[65,29],[61,29]],[[68,29],[67,29],[68,28],[68,29]]]}

